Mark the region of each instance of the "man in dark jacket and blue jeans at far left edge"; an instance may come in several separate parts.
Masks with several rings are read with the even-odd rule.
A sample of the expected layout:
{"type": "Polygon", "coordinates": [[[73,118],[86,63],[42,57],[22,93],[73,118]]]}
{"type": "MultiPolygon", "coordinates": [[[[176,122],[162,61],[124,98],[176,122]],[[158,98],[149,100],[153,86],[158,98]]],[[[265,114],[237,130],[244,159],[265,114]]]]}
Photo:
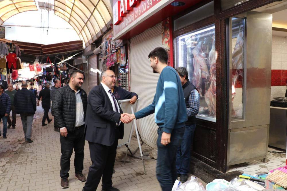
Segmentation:
{"type": "MultiPolygon", "coordinates": [[[[7,118],[11,111],[11,102],[9,95],[4,93],[4,86],[0,85],[0,118],[3,121],[3,139],[7,139],[7,118]]],[[[0,130],[1,136],[1,130],[0,130]]]]}

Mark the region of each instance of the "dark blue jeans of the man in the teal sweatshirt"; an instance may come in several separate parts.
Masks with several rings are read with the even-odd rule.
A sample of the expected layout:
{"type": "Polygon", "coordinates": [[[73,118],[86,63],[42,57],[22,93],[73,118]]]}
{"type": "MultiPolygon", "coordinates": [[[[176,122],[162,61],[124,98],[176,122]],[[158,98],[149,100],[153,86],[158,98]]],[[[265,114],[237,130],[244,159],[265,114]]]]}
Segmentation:
{"type": "Polygon", "coordinates": [[[160,143],[163,128],[158,128],[158,159],[156,160],[156,178],[158,179],[163,191],[171,191],[175,180],[177,180],[175,157],[177,148],[183,139],[184,130],[184,127],[173,129],[171,132],[170,143],[164,146],[160,143]]]}

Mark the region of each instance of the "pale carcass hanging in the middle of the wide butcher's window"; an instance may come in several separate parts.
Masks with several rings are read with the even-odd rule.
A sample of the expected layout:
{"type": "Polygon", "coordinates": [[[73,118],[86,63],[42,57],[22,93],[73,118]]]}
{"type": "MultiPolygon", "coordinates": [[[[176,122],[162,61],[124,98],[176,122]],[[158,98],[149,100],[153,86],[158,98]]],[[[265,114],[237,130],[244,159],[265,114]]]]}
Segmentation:
{"type": "Polygon", "coordinates": [[[193,83],[197,90],[199,91],[200,96],[202,96],[202,86],[201,79],[209,79],[209,71],[205,62],[205,46],[202,42],[199,42],[195,48],[192,50],[193,54],[193,83]]]}

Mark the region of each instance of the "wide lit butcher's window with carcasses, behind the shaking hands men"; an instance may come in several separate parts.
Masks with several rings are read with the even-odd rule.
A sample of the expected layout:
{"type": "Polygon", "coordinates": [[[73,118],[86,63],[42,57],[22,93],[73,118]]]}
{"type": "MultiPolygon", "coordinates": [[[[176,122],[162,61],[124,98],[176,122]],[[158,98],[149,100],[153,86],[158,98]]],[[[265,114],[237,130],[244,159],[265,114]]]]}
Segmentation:
{"type": "Polygon", "coordinates": [[[197,118],[216,122],[216,51],[214,24],[175,39],[176,67],[186,67],[200,94],[197,118]]]}

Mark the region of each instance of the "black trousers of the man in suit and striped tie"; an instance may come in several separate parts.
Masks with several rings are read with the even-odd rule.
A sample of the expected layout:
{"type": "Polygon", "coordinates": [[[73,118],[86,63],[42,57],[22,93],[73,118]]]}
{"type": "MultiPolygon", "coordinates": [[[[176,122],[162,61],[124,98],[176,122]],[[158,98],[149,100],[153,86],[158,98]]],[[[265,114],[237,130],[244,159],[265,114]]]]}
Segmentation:
{"type": "MultiPolygon", "coordinates": [[[[119,135],[119,132],[117,132],[119,135]]],[[[102,189],[110,188],[113,184],[112,176],[117,154],[119,137],[111,146],[89,142],[92,166],[89,168],[87,182],[84,191],[95,191],[102,177],[102,189]]]]}

